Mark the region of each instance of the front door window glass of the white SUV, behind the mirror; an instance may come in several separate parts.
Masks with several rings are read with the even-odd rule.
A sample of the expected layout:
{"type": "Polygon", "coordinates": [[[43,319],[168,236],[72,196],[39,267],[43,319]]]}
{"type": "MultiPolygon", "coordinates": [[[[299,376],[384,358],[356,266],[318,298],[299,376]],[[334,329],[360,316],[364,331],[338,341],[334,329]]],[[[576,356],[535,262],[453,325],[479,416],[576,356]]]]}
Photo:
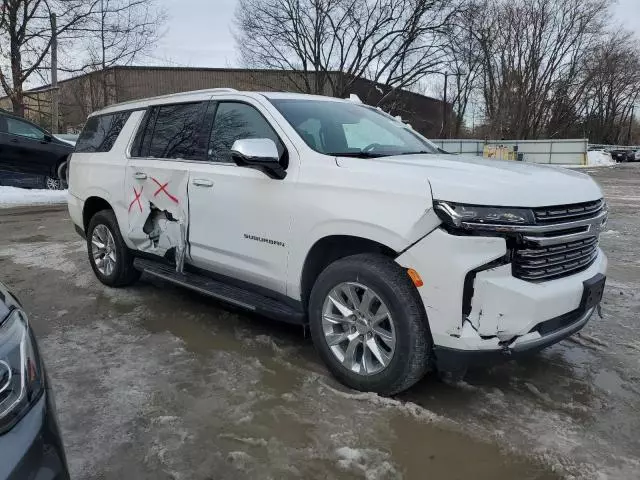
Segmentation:
{"type": "Polygon", "coordinates": [[[242,138],[270,138],[276,143],[278,154],[282,158],[284,145],[258,110],[246,103],[219,103],[207,158],[213,162],[231,162],[233,142],[242,138]]]}

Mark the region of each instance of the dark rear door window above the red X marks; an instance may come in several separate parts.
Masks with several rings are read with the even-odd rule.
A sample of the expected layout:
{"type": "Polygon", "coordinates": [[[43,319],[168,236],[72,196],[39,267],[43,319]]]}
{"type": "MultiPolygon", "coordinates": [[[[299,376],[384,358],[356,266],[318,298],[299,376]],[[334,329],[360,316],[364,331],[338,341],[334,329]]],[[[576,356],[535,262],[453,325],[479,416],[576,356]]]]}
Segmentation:
{"type": "Polygon", "coordinates": [[[157,117],[148,156],[155,158],[204,158],[200,131],[206,103],[162,105],[155,108],[157,117]]]}

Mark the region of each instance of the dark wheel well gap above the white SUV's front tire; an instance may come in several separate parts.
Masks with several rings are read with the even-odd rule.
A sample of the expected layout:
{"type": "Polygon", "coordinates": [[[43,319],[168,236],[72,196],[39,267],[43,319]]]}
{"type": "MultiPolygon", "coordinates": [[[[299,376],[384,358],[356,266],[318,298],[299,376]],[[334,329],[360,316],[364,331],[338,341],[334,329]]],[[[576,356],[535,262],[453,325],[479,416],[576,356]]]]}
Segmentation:
{"type": "Polygon", "coordinates": [[[396,258],[397,252],[373,240],[350,235],[332,235],[318,240],[305,259],[300,281],[300,294],[303,305],[309,304],[311,289],[322,271],[336,260],[359,253],[381,253],[396,258]]]}

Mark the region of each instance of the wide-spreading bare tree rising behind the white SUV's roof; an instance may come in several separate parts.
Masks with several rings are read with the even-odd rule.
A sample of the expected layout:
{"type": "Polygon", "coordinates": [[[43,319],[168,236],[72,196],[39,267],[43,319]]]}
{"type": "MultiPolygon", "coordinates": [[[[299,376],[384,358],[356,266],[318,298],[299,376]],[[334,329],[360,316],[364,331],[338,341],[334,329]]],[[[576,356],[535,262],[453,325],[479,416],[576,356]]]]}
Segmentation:
{"type": "Polygon", "coordinates": [[[458,11],[447,0],[240,0],[236,40],[250,67],[285,70],[297,90],[346,96],[358,78],[395,89],[445,59],[458,11]]]}

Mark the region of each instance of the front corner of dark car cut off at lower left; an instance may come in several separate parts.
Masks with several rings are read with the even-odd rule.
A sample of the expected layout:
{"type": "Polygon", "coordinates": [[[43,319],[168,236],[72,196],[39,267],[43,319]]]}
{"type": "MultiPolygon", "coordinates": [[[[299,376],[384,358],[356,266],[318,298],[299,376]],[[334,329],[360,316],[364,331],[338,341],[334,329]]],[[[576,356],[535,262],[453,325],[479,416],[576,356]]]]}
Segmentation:
{"type": "Polygon", "coordinates": [[[0,283],[0,479],[69,478],[38,344],[20,303],[0,283]]]}

